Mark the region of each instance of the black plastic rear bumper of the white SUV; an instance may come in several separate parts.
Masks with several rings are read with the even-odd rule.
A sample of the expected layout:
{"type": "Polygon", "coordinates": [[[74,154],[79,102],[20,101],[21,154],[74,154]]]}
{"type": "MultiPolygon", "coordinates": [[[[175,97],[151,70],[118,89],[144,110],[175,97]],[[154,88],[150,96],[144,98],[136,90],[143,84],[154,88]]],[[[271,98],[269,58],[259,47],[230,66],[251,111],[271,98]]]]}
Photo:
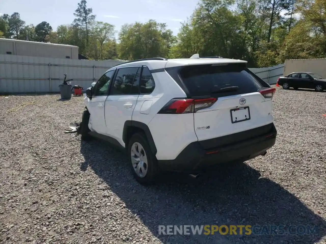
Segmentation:
{"type": "MultiPolygon", "coordinates": [[[[219,145],[214,148],[203,149],[205,142],[192,142],[173,160],[158,160],[158,166],[162,170],[200,173],[204,169],[221,163],[246,161],[262,155],[275,144],[277,131],[274,123],[270,124],[270,131],[260,135],[254,135],[245,140],[230,144],[219,145]]],[[[253,131],[257,131],[254,129],[253,131]]],[[[246,131],[248,135],[251,130],[246,131]]],[[[255,133],[253,133],[255,134],[255,133]]],[[[223,137],[228,142],[230,137],[241,138],[243,132],[223,137]]],[[[224,140],[225,139],[225,140],[224,140]]],[[[211,139],[210,139],[211,140],[211,139]]],[[[220,141],[220,140],[219,140],[220,141]]],[[[232,140],[233,141],[233,140],[232,140]]]]}

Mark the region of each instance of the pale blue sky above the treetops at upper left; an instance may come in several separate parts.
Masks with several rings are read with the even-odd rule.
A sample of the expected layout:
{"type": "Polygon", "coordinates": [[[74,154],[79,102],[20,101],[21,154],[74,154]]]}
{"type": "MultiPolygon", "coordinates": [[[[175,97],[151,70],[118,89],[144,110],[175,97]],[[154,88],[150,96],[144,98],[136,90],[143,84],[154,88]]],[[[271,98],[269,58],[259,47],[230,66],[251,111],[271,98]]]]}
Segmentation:
{"type": "MultiPolygon", "coordinates": [[[[26,24],[50,23],[55,30],[60,24],[74,20],[73,13],[80,0],[0,0],[0,13],[18,12],[26,24]]],[[[177,34],[183,22],[190,17],[198,0],[87,0],[96,20],[115,25],[116,30],[125,23],[146,22],[154,19],[167,23],[177,34]],[[182,7],[180,7],[182,6],[182,7]]]]}

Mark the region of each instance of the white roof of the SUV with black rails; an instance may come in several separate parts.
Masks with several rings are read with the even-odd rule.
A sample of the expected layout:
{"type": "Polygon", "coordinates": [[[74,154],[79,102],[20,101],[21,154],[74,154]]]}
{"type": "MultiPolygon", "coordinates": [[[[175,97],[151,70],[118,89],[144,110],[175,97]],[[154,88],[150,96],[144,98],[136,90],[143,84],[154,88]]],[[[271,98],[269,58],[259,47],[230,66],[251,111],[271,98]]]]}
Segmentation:
{"type": "MultiPolygon", "coordinates": [[[[199,56],[198,56],[199,57],[199,56]]],[[[237,59],[224,59],[217,57],[205,57],[205,58],[188,58],[188,59],[164,59],[164,58],[153,58],[153,59],[142,59],[135,61],[127,61],[111,67],[111,69],[131,67],[131,66],[147,66],[150,70],[164,69],[176,66],[194,65],[194,64],[214,64],[214,63],[247,63],[244,60],[237,59]]],[[[109,71],[108,70],[108,71],[109,71]]]]}

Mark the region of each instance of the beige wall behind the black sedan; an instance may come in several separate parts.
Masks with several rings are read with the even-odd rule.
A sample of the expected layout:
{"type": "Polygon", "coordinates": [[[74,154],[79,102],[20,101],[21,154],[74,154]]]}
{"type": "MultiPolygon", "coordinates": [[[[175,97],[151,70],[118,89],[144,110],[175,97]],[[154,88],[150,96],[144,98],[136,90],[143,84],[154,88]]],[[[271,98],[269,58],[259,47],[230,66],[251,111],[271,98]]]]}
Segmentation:
{"type": "Polygon", "coordinates": [[[313,72],[326,78],[326,59],[287,59],[284,75],[292,72],[313,72]]]}

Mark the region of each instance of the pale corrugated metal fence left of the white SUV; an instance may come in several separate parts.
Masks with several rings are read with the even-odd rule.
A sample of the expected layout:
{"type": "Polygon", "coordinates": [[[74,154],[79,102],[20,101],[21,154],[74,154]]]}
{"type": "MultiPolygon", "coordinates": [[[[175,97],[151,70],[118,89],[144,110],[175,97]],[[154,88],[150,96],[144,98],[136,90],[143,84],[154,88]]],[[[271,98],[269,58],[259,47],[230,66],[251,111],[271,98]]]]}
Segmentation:
{"type": "Polygon", "coordinates": [[[64,75],[72,85],[91,86],[123,61],[92,61],[0,55],[0,93],[59,92],[64,75]]]}

